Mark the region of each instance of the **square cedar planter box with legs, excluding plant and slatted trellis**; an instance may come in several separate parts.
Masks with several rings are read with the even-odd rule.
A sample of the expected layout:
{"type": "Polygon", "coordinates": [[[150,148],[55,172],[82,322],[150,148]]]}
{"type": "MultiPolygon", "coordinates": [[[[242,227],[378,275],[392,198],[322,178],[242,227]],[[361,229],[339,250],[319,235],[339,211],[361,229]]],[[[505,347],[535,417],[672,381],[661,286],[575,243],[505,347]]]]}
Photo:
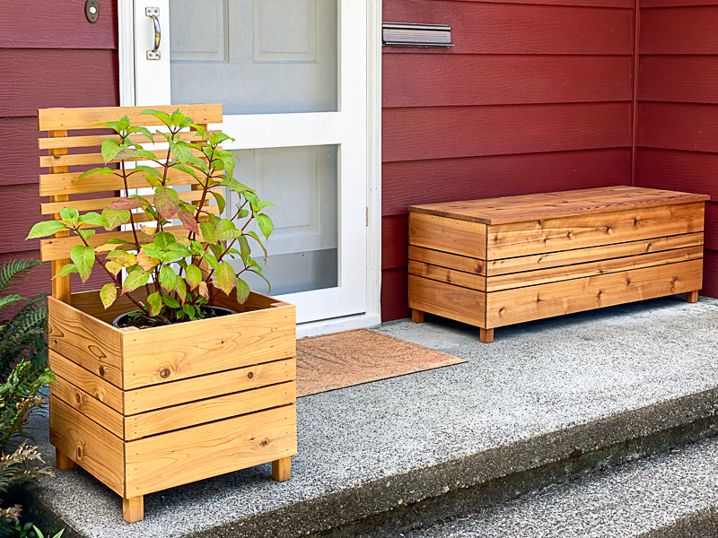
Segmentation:
{"type": "Polygon", "coordinates": [[[143,495],[273,462],[289,478],[297,453],[294,307],[252,293],[235,316],[117,329],[126,298],[49,300],[50,441],[122,496],[127,521],[143,495]]]}

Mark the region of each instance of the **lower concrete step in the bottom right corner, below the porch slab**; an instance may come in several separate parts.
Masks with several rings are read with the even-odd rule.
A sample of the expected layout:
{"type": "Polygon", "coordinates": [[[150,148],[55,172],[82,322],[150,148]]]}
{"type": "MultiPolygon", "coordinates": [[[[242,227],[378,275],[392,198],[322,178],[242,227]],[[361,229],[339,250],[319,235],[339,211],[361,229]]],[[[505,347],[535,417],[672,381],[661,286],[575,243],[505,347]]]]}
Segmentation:
{"type": "Polygon", "coordinates": [[[718,439],[437,523],[406,538],[718,536],[718,439]]]}

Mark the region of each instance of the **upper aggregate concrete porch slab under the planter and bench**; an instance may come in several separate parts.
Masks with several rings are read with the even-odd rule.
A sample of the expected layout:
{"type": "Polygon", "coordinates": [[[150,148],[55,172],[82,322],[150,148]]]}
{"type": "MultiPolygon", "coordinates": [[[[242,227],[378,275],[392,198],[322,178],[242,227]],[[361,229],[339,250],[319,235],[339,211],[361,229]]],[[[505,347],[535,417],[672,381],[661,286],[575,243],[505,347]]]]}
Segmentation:
{"type": "Polygon", "coordinates": [[[144,497],[132,525],[120,498],[77,467],[33,495],[68,535],[308,534],[696,420],[718,406],[718,300],[682,297],[497,329],[492,344],[436,317],[381,325],[468,362],[300,398],[288,482],[265,464],[164,490],[144,497]]]}

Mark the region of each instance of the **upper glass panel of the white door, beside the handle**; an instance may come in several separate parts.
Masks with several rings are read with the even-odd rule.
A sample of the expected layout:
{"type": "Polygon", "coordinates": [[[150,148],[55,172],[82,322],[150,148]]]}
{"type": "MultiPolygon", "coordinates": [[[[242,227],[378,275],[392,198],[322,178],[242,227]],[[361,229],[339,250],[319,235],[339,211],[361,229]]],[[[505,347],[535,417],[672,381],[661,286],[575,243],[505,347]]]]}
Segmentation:
{"type": "Polygon", "coordinates": [[[337,110],[338,0],[171,0],[173,104],[337,110]]]}

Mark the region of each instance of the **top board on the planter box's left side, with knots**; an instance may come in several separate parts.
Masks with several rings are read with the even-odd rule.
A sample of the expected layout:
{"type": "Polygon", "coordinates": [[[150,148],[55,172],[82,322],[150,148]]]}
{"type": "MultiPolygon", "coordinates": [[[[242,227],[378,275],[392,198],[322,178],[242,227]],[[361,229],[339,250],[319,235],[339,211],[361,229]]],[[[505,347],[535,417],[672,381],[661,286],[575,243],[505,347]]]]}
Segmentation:
{"type": "Polygon", "coordinates": [[[111,325],[57,299],[48,299],[50,349],[119,387],[123,381],[120,335],[111,325]]]}

